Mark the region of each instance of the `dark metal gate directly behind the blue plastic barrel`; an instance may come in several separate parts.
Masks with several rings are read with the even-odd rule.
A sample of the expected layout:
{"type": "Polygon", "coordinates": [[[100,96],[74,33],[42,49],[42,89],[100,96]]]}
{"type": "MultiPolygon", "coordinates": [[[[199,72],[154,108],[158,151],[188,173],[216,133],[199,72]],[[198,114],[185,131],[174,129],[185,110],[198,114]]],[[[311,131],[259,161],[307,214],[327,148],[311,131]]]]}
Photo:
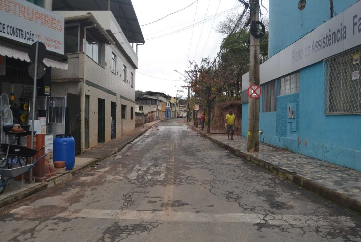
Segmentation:
{"type": "Polygon", "coordinates": [[[65,133],[71,134],[75,140],[75,155],[80,154],[80,95],[66,94],[65,133]]]}

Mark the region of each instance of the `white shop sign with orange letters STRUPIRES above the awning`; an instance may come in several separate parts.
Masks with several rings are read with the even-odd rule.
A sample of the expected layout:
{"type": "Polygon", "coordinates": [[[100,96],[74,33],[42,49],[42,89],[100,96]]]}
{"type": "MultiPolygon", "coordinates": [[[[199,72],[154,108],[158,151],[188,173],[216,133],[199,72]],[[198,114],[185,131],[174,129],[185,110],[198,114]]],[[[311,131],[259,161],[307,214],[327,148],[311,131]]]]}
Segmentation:
{"type": "Polygon", "coordinates": [[[64,17],[23,0],[0,0],[0,36],[64,54],[64,17]]]}

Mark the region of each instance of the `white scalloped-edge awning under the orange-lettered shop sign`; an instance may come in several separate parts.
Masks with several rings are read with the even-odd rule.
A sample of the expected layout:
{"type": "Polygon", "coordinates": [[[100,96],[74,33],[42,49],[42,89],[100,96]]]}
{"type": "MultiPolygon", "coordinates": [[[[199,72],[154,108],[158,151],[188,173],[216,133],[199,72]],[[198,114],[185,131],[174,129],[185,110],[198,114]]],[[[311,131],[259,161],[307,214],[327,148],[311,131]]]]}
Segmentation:
{"type": "MultiPolygon", "coordinates": [[[[7,56],[9,58],[20,59],[21,61],[31,62],[28,56],[28,48],[20,43],[16,45],[17,41],[13,43],[0,41],[0,55],[7,56]]],[[[62,70],[68,69],[67,58],[65,55],[60,55],[54,52],[47,51],[46,57],[43,63],[48,67],[54,67],[62,70]]]]}

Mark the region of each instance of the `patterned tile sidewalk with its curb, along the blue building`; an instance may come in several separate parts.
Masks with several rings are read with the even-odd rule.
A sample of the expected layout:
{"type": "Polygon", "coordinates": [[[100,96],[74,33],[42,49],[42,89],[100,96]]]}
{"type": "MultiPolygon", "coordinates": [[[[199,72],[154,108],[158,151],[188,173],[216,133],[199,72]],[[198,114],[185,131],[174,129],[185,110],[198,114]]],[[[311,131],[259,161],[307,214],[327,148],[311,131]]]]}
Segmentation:
{"type": "MultiPolygon", "coordinates": [[[[192,123],[187,124],[192,127],[192,123]]],[[[259,152],[250,153],[247,139],[242,136],[228,140],[226,134],[207,134],[207,130],[193,129],[235,155],[361,213],[361,172],[264,143],[260,143],[259,152]]]]}

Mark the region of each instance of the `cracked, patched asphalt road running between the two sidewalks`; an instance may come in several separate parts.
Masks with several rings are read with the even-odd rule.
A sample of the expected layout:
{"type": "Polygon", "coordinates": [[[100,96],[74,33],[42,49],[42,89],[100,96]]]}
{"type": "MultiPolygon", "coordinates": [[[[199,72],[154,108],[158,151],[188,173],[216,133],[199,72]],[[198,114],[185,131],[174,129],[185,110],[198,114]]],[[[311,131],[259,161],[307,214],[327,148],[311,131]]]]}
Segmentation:
{"type": "Polygon", "coordinates": [[[70,182],[2,208],[0,241],[361,241],[361,216],[161,122],[70,182]]]}

